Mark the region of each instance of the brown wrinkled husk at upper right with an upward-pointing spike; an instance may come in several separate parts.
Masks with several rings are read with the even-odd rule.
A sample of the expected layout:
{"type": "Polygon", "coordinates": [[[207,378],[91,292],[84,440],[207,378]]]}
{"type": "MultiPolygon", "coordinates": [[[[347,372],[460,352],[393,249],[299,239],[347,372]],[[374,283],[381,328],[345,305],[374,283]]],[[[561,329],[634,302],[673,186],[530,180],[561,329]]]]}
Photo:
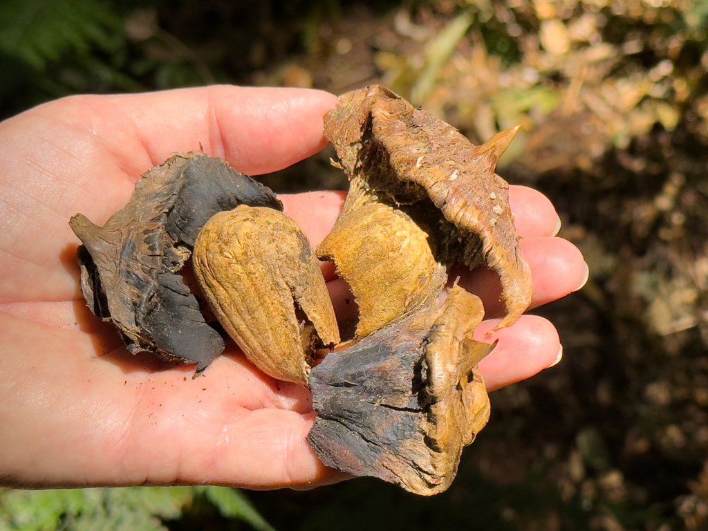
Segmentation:
{"type": "Polygon", "coordinates": [[[344,94],[325,116],[325,135],[351,187],[365,196],[348,201],[345,211],[366,200],[395,205],[430,226],[440,262],[495,269],[507,309],[500,326],[516,321],[532,295],[508,184],[494,173],[517,129],[474,146],[452,126],[380,86],[344,94]]]}

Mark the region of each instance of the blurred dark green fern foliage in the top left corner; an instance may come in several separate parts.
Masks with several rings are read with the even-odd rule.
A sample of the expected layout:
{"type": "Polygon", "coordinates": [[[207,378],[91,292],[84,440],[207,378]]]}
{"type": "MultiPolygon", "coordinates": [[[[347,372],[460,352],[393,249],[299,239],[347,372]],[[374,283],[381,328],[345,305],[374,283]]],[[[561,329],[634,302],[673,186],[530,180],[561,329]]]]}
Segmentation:
{"type": "Polygon", "coordinates": [[[136,91],[126,71],[127,38],[101,0],[0,3],[0,112],[81,91],[136,91]]]}

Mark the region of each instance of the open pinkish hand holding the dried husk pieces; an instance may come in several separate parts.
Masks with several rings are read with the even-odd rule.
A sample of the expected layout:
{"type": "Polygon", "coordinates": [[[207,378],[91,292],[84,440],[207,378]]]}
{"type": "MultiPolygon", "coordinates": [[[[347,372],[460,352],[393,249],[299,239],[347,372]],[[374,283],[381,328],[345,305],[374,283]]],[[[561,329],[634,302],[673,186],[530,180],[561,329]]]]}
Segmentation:
{"type": "MultiPolygon", "coordinates": [[[[132,356],[86,308],[69,218],[103,224],[139,176],[174,152],[203,148],[237,170],[277,171],[326,145],[329,93],[215,86],[129,96],[75,96],[0,124],[0,485],[224,484],[308,488],[343,479],[307,446],[307,389],[262,375],[235,348],[194,367],[132,356]]],[[[316,245],[342,205],[335,192],[282,196],[316,245]]],[[[543,195],[511,187],[535,306],[577,290],[581,253],[552,237],[543,195]]],[[[325,268],[334,304],[350,295],[325,268]]],[[[462,282],[491,319],[476,338],[498,346],[481,365],[489,389],[531,377],[562,352],[554,326],[523,316],[493,330],[503,308],[489,271],[462,282]]],[[[497,283],[495,283],[497,282],[497,283]]],[[[346,311],[343,310],[343,311],[346,311]]]]}

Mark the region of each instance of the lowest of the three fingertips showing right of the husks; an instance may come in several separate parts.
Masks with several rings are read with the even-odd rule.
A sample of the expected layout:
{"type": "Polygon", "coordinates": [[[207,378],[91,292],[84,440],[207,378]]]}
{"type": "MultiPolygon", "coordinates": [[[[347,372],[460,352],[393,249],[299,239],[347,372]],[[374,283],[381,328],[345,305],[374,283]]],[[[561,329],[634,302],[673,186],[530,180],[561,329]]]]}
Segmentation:
{"type": "Polygon", "coordinates": [[[491,332],[498,324],[498,319],[484,321],[474,331],[476,341],[498,340],[491,354],[479,363],[489,391],[530,378],[560,361],[558,332],[547,319],[524,315],[508,329],[491,332]]]}

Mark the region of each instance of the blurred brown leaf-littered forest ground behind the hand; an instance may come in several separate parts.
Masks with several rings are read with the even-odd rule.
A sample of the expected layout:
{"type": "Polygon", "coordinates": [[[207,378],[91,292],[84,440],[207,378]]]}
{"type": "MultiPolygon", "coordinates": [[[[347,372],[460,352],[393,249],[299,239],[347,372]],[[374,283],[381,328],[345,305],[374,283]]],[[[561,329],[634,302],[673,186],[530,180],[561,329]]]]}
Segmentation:
{"type": "MultiPolygon", "coordinates": [[[[523,125],[498,173],[546,193],[590,265],[536,312],[563,361],[492,394],[435,498],[371,479],[246,496],[280,530],[704,530],[707,17],[700,0],[4,0],[0,115],[72,93],[381,83],[473,142],[523,125]]],[[[329,156],[263,181],[346,189],[329,156]]],[[[199,496],[155,525],[246,528],[199,496]]]]}

